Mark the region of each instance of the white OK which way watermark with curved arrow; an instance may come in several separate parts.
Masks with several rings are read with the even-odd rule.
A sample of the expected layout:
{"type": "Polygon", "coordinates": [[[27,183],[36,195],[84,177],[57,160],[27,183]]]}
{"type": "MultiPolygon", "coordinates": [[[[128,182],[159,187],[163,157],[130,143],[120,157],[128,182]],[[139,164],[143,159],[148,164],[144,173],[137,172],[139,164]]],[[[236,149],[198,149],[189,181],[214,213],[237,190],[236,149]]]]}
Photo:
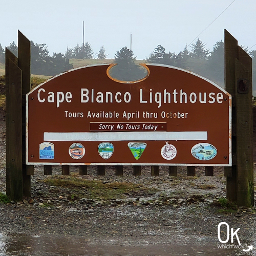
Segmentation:
{"type": "Polygon", "coordinates": [[[242,249],[243,251],[250,251],[252,250],[252,245],[247,246],[247,244],[245,245],[241,245],[239,237],[238,237],[238,231],[240,230],[240,228],[238,228],[236,231],[234,231],[233,228],[229,228],[229,225],[226,222],[220,222],[218,225],[218,239],[219,241],[222,243],[222,245],[218,245],[219,249],[242,249]],[[221,226],[225,225],[227,227],[227,236],[226,236],[226,240],[222,240],[223,238],[221,238],[221,226]],[[231,232],[229,232],[231,231],[231,232]],[[230,233],[230,237],[231,237],[231,244],[227,244],[229,241],[229,233],[230,233]],[[236,237],[237,241],[238,241],[238,245],[232,244],[234,242],[234,237],[236,237]],[[247,248],[248,247],[248,248],[247,248]]]}

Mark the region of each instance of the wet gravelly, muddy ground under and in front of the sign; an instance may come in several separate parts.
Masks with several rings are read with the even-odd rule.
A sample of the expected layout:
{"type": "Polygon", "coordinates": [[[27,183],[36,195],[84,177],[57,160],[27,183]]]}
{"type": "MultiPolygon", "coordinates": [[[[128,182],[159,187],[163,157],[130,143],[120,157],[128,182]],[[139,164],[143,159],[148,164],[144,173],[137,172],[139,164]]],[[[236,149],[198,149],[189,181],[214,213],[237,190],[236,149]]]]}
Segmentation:
{"type": "MultiPolygon", "coordinates": [[[[3,193],[4,121],[1,113],[3,193]]],[[[140,177],[133,176],[132,167],[124,167],[122,177],[113,167],[97,176],[96,166],[88,167],[87,176],[78,175],[78,166],[71,167],[71,176],[60,174],[60,166],[52,176],[36,166],[32,197],[0,204],[0,255],[256,255],[256,249],[218,248],[238,245],[236,239],[219,242],[220,222],[240,228],[241,245],[256,248],[255,208],[226,203],[222,167],[215,168],[214,177],[205,177],[202,167],[196,177],[187,177],[185,167],[172,177],[166,166],[160,166],[159,177],[152,177],[147,166],[140,177]]]]}

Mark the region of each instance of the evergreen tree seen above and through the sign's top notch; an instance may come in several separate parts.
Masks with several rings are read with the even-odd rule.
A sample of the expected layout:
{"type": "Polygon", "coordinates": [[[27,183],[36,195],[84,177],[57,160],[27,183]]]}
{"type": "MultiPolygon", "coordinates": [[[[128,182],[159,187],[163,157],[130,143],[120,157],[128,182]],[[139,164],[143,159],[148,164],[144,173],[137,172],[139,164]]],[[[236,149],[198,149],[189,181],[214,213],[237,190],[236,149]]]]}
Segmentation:
{"type": "Polygon", "coordinates": [[[117,66],[110,69],[110,75],[121,81],[136,81],[147,74],[147,71],[135,64],[134,54],[126,46],[115,54],[117,66]]]}

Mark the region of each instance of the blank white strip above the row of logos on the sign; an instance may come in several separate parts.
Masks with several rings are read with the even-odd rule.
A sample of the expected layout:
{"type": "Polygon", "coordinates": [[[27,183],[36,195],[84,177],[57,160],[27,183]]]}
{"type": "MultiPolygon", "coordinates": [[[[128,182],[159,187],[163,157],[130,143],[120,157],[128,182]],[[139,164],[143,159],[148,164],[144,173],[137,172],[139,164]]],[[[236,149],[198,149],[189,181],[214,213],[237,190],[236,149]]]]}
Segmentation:
{"type": "Polygon", "coordinates": [[[207,140],[207,132],[44,133],[44,141],[207,140]]]}

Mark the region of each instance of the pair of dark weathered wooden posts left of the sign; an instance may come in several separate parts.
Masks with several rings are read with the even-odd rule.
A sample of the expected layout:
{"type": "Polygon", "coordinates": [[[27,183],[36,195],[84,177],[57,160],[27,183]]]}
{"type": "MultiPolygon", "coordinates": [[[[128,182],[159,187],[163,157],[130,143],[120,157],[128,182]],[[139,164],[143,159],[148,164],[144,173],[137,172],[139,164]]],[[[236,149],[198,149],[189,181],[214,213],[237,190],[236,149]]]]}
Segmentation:
{"type": "Polygon", "coordinates": [[[6,48],[6,194],[29,197],[33,165],[26,166],[26,94],[30,91],[30,41],[18,31],[18,58],[6,48]]]}

